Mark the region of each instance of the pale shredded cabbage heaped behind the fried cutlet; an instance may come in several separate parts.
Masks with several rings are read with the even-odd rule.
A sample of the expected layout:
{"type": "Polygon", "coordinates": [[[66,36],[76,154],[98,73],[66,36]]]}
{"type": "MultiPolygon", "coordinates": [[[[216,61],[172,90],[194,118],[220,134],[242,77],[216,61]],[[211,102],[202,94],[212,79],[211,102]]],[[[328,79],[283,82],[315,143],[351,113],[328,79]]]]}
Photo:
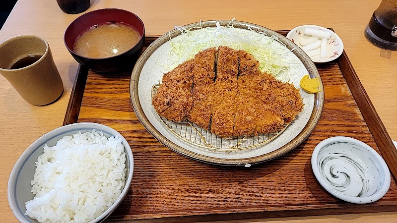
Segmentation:
{"type": "Polygon", "coordinates": [[[247,51],[259,61],[259,69],[262,72],[271,73],[277,79],[287,81],[289,65],[282,56],[289,50],[285,45],[276,36],[268,37],[262,34],[258,35],[251,29],[247,32],[247,30],[234,28],[234,19],[227,26],[216,23],[216,28],[202,28],[200,25],[200,27],[188,30],[183,26],[175,26],[184,35],[179,38],[170,38],[171,50],[169,54],[172,64],[163,66],[172,70],[205,49],[228,46],[235,50],[247,51]],[[256,35],[252,35],[252,33],[256,35]],[[273,41],[281,44],[272,45],[273,41]]]}

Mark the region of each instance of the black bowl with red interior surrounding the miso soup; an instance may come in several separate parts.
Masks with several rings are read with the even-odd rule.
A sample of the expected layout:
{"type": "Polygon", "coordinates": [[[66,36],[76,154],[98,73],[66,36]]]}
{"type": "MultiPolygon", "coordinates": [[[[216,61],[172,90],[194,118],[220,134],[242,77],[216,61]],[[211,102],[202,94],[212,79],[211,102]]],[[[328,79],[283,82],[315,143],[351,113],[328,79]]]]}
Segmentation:
{"type": "MultiPolygon", "coordinates": [[[[98,36],[98,38],[101,38],[101,36],[98,36]]],[[[143,43],[145,42],[145,27],[142,20],[132,12],[117,8],[98,9],[85,13],[71,22],[66,28],[64,41],[71,56],[81,65],[97,72],[129,71],[132,70],[142,53],[143,43]],[[134,27],[141,36],[139,42],[123,54],[105,58],[90,58],[78,55],[73,51],[74,43],[81,34],[93,26],[109,22],[123,22],[134,27]]]]}

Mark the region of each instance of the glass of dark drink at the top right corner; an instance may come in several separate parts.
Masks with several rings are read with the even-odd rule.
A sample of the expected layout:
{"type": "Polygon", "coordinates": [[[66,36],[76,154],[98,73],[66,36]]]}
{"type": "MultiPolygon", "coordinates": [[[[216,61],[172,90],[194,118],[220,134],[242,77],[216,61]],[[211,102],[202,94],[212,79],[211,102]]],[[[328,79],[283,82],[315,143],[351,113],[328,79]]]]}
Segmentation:
{"type": "Polygon", "coordinates": [[[397,0],[383,0],[365,29],[365,37],[377,47],[397,50],[397,0]]]}

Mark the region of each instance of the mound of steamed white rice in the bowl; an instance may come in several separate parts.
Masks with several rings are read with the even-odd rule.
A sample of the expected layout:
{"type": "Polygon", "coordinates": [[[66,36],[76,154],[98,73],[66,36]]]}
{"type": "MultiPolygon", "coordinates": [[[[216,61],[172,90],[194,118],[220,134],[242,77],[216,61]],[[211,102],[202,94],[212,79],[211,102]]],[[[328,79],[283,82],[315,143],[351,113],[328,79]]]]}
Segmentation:
{"type": "Polygon", "coordinates": [[[126,183],[122,140],[102,132],[65,136],[44,146],[36,162],[26,213],[40,223],[86,223],[104,213],[126,183]]]}

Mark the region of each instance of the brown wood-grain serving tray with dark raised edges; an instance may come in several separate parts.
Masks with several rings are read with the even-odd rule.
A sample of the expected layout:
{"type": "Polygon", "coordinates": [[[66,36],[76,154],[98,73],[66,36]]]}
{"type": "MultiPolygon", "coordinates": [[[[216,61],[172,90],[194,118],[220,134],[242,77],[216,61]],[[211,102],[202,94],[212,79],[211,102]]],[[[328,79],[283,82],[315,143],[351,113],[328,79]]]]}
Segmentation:
{"type": "MultiPolygon", "coordinates": [[[[287,31],[279,31],[286,35],[287,31]]],[[[146,46],[156,37],[146,39],[146,46]]],[[[322,140],[349,136],[380,151],[394,177],[397,151],[346,54],[318,64],[325,89],[322,117],[310,137],[275,160],[252,167],[220,167],[181,156],[163,146],[132,110],[130,73],[78,70],[64,124],[98,122],[130,142],[131,190],[109,221],[203,222],[397,211],[394,178],[388,193],[371,204],[331,196],[316,180],[311,154],[322,140]]]]}

